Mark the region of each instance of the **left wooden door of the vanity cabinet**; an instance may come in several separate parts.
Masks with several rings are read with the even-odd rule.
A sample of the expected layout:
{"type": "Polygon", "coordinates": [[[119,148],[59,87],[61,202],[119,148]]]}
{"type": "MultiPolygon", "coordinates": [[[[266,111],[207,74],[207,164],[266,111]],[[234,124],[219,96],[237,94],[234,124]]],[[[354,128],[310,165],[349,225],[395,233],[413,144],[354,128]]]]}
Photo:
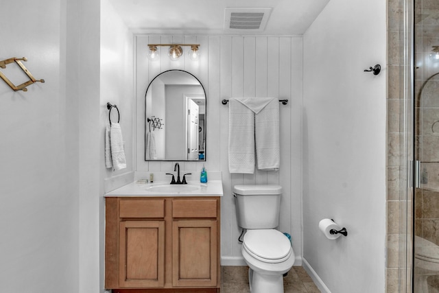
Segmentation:
{"type": "Polygon", "coordinates": [[[120,223],[119,286],[163,287],[165,284],[165,222],[120,223]]]}

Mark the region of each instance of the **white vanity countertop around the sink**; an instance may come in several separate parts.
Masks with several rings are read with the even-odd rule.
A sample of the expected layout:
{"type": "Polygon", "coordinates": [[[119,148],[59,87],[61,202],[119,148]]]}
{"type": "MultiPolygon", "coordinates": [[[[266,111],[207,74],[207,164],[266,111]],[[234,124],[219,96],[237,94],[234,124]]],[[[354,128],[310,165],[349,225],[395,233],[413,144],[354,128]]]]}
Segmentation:
{"type": "MultiPolygon", "coordinates": [[[[189,181],[188,186],[198,187],[195,191],[185,190],[174,193],[164,193],[158,191],[150,191],[149,187],[156,185],[169,185],[169,182],[154,183],[129,183],[105,194],[106,197],[115,196],[223,196],[222,180],[209,180],[207,183],[199,181],[189,181]]],[[[178,185],[174,185],[178,186],[178,185]]],[[[183,188],[184,189],[184,188],[183,188]]]]}

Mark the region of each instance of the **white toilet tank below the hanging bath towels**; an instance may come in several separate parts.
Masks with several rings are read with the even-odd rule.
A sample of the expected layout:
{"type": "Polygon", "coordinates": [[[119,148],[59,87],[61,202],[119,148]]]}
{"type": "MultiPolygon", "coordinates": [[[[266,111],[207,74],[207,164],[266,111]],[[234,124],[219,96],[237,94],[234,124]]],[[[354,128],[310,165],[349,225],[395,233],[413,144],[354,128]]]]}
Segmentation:
{"type": "Polygon", "coordinates": [[[238,226],[270,229],[279,225],[282,187],[280,185],[235,185],[238,226]]]}

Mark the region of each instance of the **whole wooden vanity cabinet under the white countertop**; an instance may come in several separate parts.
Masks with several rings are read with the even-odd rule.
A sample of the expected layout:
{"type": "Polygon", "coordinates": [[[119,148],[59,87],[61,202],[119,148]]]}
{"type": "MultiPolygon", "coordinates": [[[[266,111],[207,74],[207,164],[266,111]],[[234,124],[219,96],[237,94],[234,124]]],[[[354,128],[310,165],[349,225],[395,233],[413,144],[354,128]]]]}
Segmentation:
{"type": "Polygon", "coordinates": [[[219,292],[219,206],[219,197],[107,197],[105,288],[219,292]]]}

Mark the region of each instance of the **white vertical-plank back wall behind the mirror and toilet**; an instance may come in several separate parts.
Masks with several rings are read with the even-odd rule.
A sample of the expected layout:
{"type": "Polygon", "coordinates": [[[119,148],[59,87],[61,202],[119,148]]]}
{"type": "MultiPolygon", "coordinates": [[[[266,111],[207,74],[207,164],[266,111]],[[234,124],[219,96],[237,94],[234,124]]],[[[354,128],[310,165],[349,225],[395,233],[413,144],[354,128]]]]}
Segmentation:
{"type": "MultiPolygon", "coordinates": [[[[302,38],[267,36],[138,36],[137,37],[137,171],[172,172],[175,162],[144,161],[145,91],[149,82],[162,71],[183,69],[195,75],[207,95],[206,168],[221,171],[223,265],[244,263],[238,242],[233,185],[276,183],[283,186],[280,230],[292,234],[294,250],[300,265],[301,228],[301,73],[302,38]],[[200,43],[200,60],[181,58],[171,62],[165,47],[161,60],[147,60],[148,43],[200,43]],[[244,54],[245,52],[245,54],[244,54]],[[281,109],[281,168],[279,172],[257,172],[254,175],[228,172],[228,106],[222,99],[230,97],[274,96],[289,99],[281,109]]],[[[166,121],[165,121],[166,124],[166,121]]],[[[182,170],[198,178],[202,163],[180,162],[182,170]]]]}

